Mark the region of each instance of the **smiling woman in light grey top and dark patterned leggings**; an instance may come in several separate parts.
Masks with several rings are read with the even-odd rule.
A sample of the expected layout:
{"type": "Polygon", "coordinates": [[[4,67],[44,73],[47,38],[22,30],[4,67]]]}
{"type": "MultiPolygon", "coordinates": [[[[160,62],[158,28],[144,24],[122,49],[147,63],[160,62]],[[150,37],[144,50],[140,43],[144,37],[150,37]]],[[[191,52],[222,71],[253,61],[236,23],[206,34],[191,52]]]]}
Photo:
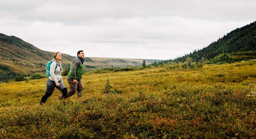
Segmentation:
{"type": "Polygon", "coordinates": [[[50,74],[51,76],[47,80],[47,89],[45,95],[42,97],[40,105],[44,104],[49,96],[53,94],[55,87],[62,92],[62,98],[67,98],[67,88],[65,87],[61,72],[61,53],[55,52],[53,55],[54,59],[50,66],[50,74]]]}

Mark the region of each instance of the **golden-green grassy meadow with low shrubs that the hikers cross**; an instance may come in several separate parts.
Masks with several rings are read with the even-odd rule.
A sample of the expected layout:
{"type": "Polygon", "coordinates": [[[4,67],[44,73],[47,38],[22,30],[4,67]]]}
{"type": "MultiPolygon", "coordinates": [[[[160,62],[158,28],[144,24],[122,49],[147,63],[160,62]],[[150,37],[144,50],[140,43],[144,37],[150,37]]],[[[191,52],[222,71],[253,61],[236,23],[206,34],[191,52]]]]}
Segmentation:
{"type": "Polygon", "coordinates": [[[88,72],[82,97],[55,89],[41,106],[46,80],[0,83],[0,138],[256,138],[252,61],[88,72]]]}

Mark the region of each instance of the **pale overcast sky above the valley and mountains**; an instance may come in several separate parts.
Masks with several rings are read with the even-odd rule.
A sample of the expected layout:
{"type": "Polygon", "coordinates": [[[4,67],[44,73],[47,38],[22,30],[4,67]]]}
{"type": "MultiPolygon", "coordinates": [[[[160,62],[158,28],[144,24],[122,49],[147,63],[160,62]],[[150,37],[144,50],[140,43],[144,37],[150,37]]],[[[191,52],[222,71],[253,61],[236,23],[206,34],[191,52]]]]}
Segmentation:
{"type": "Polygon", "coordinates": [[[46,51],[168,60],[256,21],[256,0],[0,0],[0,33],[46,51]]]}

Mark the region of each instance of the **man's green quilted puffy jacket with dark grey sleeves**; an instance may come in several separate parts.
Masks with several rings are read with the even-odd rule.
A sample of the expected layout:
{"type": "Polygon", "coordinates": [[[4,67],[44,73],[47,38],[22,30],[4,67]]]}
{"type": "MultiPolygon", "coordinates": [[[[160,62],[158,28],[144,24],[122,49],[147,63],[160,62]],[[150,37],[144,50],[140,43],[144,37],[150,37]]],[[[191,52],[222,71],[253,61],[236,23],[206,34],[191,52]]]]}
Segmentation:
{"type": "Polygon", "coordinates": [[[76,57],[71,63],[68,77],[76,79],[77,81],[80,81],[84,71],[83,62],[84,62],[83,59],[76,57]],[[75,66],[74,69],[73,69],[73,65],[75,66]]]}

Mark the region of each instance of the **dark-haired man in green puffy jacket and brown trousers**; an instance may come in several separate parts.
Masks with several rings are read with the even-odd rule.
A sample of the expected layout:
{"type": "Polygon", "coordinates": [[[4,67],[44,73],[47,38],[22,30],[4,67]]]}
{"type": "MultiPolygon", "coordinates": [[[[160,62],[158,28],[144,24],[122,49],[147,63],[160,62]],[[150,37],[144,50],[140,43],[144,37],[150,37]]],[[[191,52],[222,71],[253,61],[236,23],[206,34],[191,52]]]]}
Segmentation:
{"type": "Polygon", "coordinates": [[[68,91],[67,96],[70,97],[75,94],[77,90],[77,96],[81,96],[80,92],[84,90],[84,86],[82,83],[82,74],[84,71],[84,51],[80,50],[77,52],[77,57],[72,61],[69,73],[68,73],[68,83],[70,86],[70,90],[68,91]]]}

